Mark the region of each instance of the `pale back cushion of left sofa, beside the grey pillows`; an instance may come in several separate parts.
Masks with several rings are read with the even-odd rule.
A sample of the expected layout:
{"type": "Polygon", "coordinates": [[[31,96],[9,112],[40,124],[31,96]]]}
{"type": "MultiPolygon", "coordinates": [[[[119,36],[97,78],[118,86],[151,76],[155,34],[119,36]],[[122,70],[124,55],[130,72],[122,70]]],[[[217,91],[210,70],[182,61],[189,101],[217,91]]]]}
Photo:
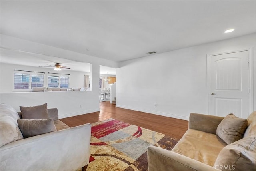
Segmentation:
{"type": "Polygon", "coordinates": [[[18,113],[6,104],[0,105],[0,112],[0,146],[23,139],[17,124],[17,119],[20,119],[18,113]]]}

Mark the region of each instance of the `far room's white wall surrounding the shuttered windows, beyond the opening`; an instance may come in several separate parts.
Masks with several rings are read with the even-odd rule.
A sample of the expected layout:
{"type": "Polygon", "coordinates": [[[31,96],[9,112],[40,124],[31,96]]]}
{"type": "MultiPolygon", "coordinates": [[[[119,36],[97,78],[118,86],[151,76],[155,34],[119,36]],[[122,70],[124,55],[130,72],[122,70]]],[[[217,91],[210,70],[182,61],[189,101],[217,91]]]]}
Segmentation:
{"type": "MultiPolygon", "coordinates": [[[[84,87],[84,74],[89,75],[88,72],[78,72],[70,70],[61,70],[55,71],[53,68],[41,68],[41,67],[32,67],[32,66],[22,66],[14,64],[1,63],[0,73],[1,73],[1,93],[11,93],[13,91],[13,73],[14,70],[26,70],[26,71],[36,71],[36,72],[45,72],[44,74],[44,87],[48,87],[47,78],[48,75],[58,75],[58,74],[48,74],[59,73],[59,74],[70,74],[70,87],[84,87]]],[[[19,71],[15,71],[19,72],[19,71]]]]}

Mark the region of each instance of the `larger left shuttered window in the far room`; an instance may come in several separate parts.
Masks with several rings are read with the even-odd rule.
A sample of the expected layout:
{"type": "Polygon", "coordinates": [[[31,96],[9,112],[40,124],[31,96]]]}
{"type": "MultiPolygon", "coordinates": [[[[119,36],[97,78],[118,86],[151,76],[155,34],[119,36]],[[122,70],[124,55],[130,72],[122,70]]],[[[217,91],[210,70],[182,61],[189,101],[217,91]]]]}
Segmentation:
{"type": "Polygon", "coordinates": [[[32,87],[44,87],[43,74],[14,73],[14,89],[31,89],[32,87]]]}

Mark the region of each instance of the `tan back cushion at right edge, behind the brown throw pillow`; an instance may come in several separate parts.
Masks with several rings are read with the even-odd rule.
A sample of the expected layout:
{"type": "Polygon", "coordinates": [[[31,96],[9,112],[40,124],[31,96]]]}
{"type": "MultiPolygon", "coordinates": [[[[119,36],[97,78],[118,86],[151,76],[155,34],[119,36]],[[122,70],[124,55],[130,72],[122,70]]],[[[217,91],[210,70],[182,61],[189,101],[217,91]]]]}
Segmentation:
{"type": "Polygon", "coordinates": [[[247,121],[248,127],[244,133],[244,137],[256,137],[256,111],[249,115],[247,121]]]}

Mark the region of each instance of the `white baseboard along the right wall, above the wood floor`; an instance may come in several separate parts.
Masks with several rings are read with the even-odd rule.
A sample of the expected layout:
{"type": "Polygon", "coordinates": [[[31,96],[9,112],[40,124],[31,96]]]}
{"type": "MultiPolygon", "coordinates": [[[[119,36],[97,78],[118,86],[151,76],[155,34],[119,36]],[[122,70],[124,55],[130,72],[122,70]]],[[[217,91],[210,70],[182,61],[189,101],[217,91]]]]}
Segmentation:
{"type": "Polygon", "coordinates": [[[145,112],[145,113],[151,113],[151,114],[160,115],[160,116],[173,117],[173,118],[176,118],[176,119],[182,119],[182,120],[186,120],[186,121],[188,121],[188,119],[189,119],[188,116],[175,115],[175,114],[172,114],[172,113],[166,113],[166,112],[160,112],[160,111],[151,111],[151,110],[147,110],[147,109],[138,109],[138,108],[124,106],[124,105],[116,105],[116,107],[135,110],[135,111],[142,111],[142,112],[145,112]]]}

